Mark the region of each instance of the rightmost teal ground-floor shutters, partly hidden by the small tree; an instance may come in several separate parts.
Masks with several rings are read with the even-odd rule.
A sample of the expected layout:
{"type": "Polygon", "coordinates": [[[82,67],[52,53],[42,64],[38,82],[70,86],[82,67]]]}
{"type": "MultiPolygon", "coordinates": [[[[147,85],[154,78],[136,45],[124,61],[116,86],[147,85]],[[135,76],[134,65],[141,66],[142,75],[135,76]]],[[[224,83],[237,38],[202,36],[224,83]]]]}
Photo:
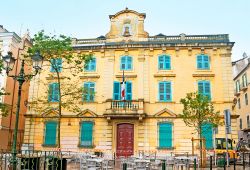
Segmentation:
{"type": "Polygon", "coordinates": [[[213,126],[211,123],[204,123],[201,126],[201,136],[206,139],[206,149],[213,149],[213,126]]]}

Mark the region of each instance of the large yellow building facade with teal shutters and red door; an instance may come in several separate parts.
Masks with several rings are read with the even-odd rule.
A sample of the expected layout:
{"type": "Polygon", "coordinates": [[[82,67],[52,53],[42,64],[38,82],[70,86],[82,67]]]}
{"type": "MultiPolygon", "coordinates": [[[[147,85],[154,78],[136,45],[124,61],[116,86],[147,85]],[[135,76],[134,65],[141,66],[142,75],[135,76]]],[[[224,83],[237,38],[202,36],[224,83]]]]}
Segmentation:
{"type": "MultiPolygon", "coordinates": [[[[191,153],[191,138],[197,138],[198,134],[178,117],[183,109],[180,99],[200,90],[211,98],[223,119],[223,111],[231,110],[233,105],[231,50],[234,43],[227,34],[149,36],[144,30],[146,15],[129,9],[109,18],[111,27],[106,36],[73,39],[74,52],[92,54],[94,61],[71,81],[78,81],[79,86],[84,84],[94,93],[78,101],[79,113],[63,110],[61,149],[98,150],[117,156],[139,152],[191,153]],[[120,85],[123,71],[125,102],[121,99],[120,85]]],[[[53,83],[49,73],[50,66],[44,66],[41,74],[32,80],[29,102],[46,92],[46,83],[53,83]]],[[[67,70],[60,74],[67,75],[67,70]]],[[[234,140],[237,139],[236,118],[232,113],[229,137],[234,140]]],[[[30,108],[26,114],[24,143],[35,150],[56,148],[56,141],[46,145],[46,141],[50,144],[46,133],[54,133],[48,129],[57,127],[53,121],[58,121],[56,111],[38,114],[30,108]],[[46,124],[50,121],[51,124],[46,124]]],[[[208,134],[211,137],[208,149],[212,149],[215,137],[225,138],[225,127],[219,126],[217,133],[211,130],[208,134]]]]}

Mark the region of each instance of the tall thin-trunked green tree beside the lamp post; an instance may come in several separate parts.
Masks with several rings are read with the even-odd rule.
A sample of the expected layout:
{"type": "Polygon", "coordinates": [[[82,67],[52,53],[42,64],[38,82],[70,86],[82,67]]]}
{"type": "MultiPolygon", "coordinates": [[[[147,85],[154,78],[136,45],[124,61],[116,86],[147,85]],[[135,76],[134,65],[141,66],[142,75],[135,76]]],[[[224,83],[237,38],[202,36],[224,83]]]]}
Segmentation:
{"type": "MultiPolygon", "coordinates": [[[[77,99],[81,98],[82,89],[76,88],[75,85],[79,83],[74,82],[71,78],[82,71],[83,62],[85,61],[85,63],[87,63],[92,59],[92,56],[74,53],[70,37],[64,35],[46,35],[43,30],[34,35],[33,46],[28,49],[28,55],[26,57],[31,57],[36,52],[39,52],[44,57],[44,63],[47,63],[48,66],[53,69],[53,72],[50,72],[48,76],[58,83],[58,99],[57,102],[53,103],[48,100],[48,95],[51,93],[51,89],[48,88],[47,96],[44,95],[33,100],[30,105],[33,110],[40,113],[51,109],[58,111],[57,141],[58,148],[60,148],[62,110],[80,111],[80,108],[74,104],[77,99]],[[57,60],[61,60],[60,65],[56,62],[57,60]],[[67,75],[62,74],[62,70],[68,70],[67,75]]],[[[44,83],[48,86],[48,82],[44,83]]]]}

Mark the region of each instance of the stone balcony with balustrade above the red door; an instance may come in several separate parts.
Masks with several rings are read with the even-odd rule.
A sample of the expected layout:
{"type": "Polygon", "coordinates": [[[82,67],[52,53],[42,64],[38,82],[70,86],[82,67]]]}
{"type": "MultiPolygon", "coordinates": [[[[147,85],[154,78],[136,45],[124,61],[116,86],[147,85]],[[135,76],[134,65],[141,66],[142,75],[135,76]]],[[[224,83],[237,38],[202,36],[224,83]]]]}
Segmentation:
{"type": "Polygon", "coordinates": [[[145,117],[143,110],[144,100],[112,100],[106,101],[104,116],[111,118],[137,118],[145,117]]]}

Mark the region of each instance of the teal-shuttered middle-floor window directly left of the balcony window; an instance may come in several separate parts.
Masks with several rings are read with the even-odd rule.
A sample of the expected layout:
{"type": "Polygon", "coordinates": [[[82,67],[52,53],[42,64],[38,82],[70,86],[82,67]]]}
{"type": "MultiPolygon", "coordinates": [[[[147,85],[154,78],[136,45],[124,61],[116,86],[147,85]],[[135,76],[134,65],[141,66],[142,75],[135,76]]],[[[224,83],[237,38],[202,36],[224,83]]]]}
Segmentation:
{"type": "Polygon", "coordinates": [[[95,99],[95,83],[86,82],[83,85],[83,96],[82,100],[86,102],[92,102],[95,99]]]}

